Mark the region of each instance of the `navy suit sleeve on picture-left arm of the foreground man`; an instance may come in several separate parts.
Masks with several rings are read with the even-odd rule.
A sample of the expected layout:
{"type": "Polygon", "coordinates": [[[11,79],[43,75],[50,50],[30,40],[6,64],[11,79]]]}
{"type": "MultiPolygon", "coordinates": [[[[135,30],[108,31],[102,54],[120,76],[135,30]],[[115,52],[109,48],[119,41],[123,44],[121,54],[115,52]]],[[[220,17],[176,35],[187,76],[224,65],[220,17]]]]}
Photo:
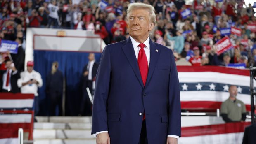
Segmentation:
{"type": "Polygon", "coordinates": [[[100,58],[96,75],[95,95],[92,112],[92,134],[107,131],[107,98],[111,79],[111,58],[106,46],[100,58]]]}

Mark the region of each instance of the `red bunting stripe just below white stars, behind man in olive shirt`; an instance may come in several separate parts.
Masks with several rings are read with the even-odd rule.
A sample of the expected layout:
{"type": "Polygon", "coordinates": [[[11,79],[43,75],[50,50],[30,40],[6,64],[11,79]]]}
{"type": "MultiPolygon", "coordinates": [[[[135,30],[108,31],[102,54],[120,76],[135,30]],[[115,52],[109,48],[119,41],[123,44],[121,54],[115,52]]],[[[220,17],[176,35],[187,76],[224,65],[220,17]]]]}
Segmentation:
{"type": "MultiPolygon", "coordinates": [[[[220,109],[222,102],[214,101],[181,101],[181,109],[220,109]]],[[[251,111],[251,105],[245,105],[247,111],[251,111]]]]}

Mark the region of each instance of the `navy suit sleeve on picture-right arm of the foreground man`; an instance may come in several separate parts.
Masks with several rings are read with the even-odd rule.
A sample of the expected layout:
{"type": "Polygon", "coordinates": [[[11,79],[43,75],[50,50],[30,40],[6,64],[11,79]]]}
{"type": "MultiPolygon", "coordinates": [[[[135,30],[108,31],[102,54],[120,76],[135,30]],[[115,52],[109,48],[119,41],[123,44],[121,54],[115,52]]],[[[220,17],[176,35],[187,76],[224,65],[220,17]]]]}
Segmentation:
{"type": "Polygon", "coordinates": [[[168,110],[169,125],[168,135],[181,136],[181,108],[180,108],[180,85],[178,72],[171,52],[171,71],[169,77],[168,110]]]}

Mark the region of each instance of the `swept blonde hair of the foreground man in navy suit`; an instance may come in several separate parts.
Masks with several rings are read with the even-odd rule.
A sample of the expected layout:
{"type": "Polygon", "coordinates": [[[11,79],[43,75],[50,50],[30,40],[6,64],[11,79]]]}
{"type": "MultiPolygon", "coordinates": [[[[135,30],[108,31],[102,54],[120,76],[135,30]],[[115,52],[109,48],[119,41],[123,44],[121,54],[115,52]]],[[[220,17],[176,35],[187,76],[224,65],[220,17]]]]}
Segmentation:
{"type": "Polygon", "coordinates": [[[145,3],[140,3],[140,2],[137,2],[137,3],[130,3],[128,5],[128,9],[127,9],[127,17],[130,16],[130,13],[134,10],[134,9],[146,9],[148,12],[149,12],[149,20],[152,22],[152,23],[156,23],[156,14],[155,14],[155,9],[152,5],[148,5],[148,4],[145,4],[145,3]]]}

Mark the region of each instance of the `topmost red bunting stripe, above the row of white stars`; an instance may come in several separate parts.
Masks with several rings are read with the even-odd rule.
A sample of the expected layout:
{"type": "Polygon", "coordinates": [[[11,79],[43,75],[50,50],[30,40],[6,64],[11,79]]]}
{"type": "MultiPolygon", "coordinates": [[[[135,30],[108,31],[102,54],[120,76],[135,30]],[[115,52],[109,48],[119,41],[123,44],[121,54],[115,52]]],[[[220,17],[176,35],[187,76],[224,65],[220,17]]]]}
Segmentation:
{"type": "Polygon", "coordinates": [[[178,72],[220,72],[225,74],[250,76],[249,70],[221,66],[177,66],[177,70],[178,72]]]}

